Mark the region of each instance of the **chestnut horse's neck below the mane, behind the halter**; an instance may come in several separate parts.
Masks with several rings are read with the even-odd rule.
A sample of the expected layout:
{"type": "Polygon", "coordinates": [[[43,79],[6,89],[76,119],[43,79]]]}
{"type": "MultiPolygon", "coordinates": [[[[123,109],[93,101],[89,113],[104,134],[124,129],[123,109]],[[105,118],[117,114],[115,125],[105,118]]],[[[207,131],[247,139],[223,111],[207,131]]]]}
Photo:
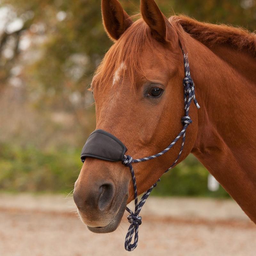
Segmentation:
{"type": "Polygon", "coordinates": [[[198,135],[192,153],[256,223],[256,59],[189,37],[198,135]]]}

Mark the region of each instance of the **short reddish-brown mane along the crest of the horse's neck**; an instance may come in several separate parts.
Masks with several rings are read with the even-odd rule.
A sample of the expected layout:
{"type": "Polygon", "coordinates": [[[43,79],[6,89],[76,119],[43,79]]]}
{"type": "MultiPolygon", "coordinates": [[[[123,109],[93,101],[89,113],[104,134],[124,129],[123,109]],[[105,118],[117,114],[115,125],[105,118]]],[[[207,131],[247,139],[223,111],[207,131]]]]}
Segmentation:
{"type": "Polygon", "coordinates": [[[236,28],[231,25],[215,25],[200,22],[184,15],[172,16],[170,23],[175,27],[181,27],[190,36],[207,46],[214,44],[228,44],[237,50],[245,50],[256,53],[256,34],[244,28],[236,28]]]}

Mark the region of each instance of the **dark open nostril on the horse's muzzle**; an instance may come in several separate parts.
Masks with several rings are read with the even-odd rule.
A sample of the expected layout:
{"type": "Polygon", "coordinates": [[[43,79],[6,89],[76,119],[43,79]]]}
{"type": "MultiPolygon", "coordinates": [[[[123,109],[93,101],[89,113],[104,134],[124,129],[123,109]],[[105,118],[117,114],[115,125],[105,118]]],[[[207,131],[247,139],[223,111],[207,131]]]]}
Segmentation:
{"type": "Polygon", "coordinates": [[[111,204],[114,196],[114,186],[112,184],[103,184],[99,188],[99,201],[98,206],[101,211],[106,210],[106,208],[111,204]]]}

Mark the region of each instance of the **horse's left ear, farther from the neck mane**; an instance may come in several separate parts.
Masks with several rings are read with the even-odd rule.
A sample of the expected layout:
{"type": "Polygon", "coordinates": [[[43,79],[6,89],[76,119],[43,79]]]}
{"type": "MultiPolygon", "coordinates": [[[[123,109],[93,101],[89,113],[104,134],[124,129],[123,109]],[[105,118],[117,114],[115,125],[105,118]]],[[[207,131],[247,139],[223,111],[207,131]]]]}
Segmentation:
{"type": "Polygon", "coordinates": [[[132,19],[117,0],[102,0],[101,13],[105,30],[113,41],[132,25],[132,19]]]}

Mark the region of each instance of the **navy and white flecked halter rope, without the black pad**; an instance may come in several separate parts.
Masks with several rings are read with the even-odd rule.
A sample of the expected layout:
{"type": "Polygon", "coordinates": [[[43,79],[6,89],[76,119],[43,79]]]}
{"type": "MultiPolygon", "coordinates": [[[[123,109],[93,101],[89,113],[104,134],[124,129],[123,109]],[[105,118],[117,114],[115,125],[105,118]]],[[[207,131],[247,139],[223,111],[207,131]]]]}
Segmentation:
{"type": "Polygon", "coordinates": [[[141,210],[142,206],[145,204],[146,199],[150,195],[152,189],[154,187],[156,187],[156,183],[158,181],[160,181],[160,179],[157,180],[156,183],[153,186],[151,186],[143,194],[143,196],[140,199],[140,202],[138,203],[137,184],[136,184],[136,178],[135,178],[134,170],[132,167],[132,163],[144,162],[144,161],[148,161],[149,159],[153,159],[153,158],[162,156],[164,153],[166,153],[173,147],[173,145],[180,139],[180,137],[182,137],[180,153],[177,156],[176,160],[173,162],[173,164],[170,166],[170,168],[168,168],[165,172],[168,172],[169,170],[171,170],[172,167],[178,162],[178,160],[181,156],[181,153],[183,151],[184,144],[185,144],[185,139],[186,139],[186,130],[188,128],[188,125],[192,123],[192,120],[189,116],[189,107],[190,107],[191,101],[192,100],[194,101],[196,108],[200,108],[200,106],[196,100],[196,96],[195,96],[195,84],[193,82],[192,77],[190,76],[188,54],[185,54],[183,49],[182,49],[182,53],[183,53],[184,70],[185,70],[185,77],[183,79],[185,116],[183,116],[181,118],[181,123],[183,124],[183,128],[182,128],[181,132],[176,136],[176,138],[172,141],[172,143],[167,148],[165,148],[164,150],[162,150],[161,152],[159,152],[155,155],[143,157],[143,158],[139,158],[139,159],[132,159],[131,156],[124,155],[124,159],[122,161],[122,163],[125,166],[128,166],[130,168],[130,171],[132,174],[133,189],[134,189],[134,203],[135,203],[134,212],[132,212],[131,209],[126,207],[126,210],[130,213],[130,215],[127,216],[127,219],[131,225],[130,225],[127,235],[125,237],[124,248],[126,251],[129,251],[129,252],[133,251],[138,245],[138,238],[139,238],[138,232],[139,232],[139,226],[140,226],[141,220],[142,220],[142,218],[139,216],[140,210],[141,210]],[[132,243],[133,235],[134,235],[134,240],[132,243]]]}

